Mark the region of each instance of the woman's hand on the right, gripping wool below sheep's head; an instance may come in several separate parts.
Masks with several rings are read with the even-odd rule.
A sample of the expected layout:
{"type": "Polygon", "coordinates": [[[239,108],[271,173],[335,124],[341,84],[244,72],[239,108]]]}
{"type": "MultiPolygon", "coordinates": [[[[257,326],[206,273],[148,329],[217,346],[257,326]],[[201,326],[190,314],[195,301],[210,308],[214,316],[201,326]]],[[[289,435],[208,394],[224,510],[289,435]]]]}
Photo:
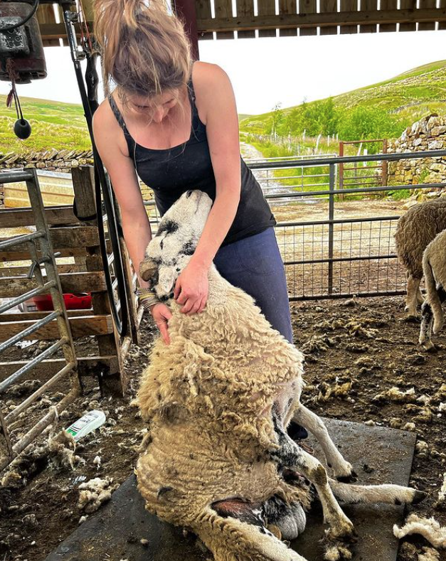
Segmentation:
{"type": "Polygon", "coordinates": [[[178,279],[174,289],[174,299],[181,304],[181,313],[196,314],[203,311],[208,299],[208,267],[189,262],[178,279]]]}

